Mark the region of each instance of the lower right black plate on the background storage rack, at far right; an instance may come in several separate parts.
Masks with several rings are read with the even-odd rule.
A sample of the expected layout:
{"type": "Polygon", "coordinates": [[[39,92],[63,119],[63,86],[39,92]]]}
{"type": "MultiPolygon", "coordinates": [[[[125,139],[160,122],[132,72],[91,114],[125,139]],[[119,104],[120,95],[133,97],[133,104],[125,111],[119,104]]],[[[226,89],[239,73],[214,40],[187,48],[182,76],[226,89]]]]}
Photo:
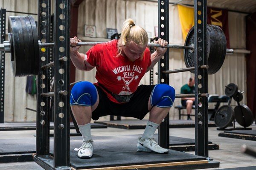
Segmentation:
{"type": "Polygon", "coordinates": [[[234,109],[235,118],[239,125],[248,127],[253,124],[253,113],[247,105],[238,105],[234,109]]]}

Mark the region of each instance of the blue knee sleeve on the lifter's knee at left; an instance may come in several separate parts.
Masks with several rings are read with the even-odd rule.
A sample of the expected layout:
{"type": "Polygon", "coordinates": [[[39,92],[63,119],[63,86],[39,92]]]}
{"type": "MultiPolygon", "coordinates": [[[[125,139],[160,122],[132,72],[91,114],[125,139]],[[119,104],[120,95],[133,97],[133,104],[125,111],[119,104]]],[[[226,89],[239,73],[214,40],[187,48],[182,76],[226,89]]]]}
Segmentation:
{"type": "Polygon", "coordinates": [[[97,89],[91,82],[76,83],[70,95],[70,105],[92,106],[97,101],[97,89]]]}

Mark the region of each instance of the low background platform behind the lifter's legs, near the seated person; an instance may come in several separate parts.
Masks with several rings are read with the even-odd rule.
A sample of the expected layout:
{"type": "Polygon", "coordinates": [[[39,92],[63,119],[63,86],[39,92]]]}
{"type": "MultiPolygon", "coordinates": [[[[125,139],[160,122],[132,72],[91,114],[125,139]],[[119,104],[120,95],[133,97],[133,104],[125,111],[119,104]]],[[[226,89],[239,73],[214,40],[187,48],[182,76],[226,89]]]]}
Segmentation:
{"type": "MultiPolygon", "coordinates": [[[[148,120],[112,120],[112,121],[94,121],[107,125],[108,127],[116,127],[121,129],[145,129],[148,120]]],[[[170,128],[195,127],[195,120],[170,120],[170,128]]],[[[208,127],[216,127],[214,121],[209,121],[208,127]]]]}

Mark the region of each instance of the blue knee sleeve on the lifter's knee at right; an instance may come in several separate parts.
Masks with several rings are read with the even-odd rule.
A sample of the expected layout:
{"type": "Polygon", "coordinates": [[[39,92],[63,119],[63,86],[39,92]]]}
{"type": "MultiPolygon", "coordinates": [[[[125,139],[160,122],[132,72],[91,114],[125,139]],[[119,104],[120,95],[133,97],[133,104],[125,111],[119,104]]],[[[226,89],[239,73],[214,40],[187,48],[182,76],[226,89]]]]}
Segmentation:
{"type": "Polygon", "coordinates": [[[151,105],[167,108],[173,105],[175,100],[175,89],[166,84],[158,84],[155,85],[152,93],[151,93],[151,105]]]}

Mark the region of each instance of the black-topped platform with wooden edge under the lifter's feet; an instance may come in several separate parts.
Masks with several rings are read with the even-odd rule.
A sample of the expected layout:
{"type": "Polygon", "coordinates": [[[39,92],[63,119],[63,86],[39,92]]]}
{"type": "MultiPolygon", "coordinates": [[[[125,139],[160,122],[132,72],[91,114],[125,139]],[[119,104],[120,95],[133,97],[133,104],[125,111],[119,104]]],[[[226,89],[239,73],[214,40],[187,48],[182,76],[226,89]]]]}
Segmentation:
{"type": "MultiPolygon", "coordinates": [[[[79,159],[73,149],[81,146],[81,139],[70,140],[70,164],[73,169],[118,170],[118,169],[199,169],[219,167],[219,162],[209,163],[205,157],[176,150],[168,154],[137,152],[137,135],[96,136],[93,138],[92,159],[79,159]]],[[[52,146],[52,140],[51,146],[52,146]]],[[[53,147],[50,148],[50,153],[53,147]]],[[[53,153],[52,153],[53,154],[53,153]]],[[[44,157],[42,157],[44,159],[44,157]]],[[[38,160],[37,160],[38,161],[38,160]]],[[[51,164],[51,160],[49,161],[51,164]]]]}

